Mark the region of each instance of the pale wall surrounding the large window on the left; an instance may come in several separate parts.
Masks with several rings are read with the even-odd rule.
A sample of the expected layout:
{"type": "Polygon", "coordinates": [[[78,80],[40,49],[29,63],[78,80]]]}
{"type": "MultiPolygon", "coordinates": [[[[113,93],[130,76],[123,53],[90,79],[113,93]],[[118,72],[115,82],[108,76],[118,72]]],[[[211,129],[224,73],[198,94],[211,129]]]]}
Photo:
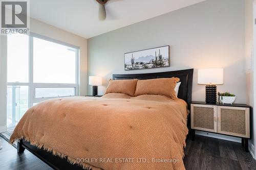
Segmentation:
{"type": "MultiPolygon", "coordinates": [[[[80,47],[80,95],[87,94],[87,39],[69,33],[65,30],[48,25],[47,23],[30,19],[30,31],[42,36],[66,42],[80,47]]],[[[7,39],[1,37],[0,58],[0,133],[1,127],[6,127],[6,75],[7,75],[7,39]]]]}

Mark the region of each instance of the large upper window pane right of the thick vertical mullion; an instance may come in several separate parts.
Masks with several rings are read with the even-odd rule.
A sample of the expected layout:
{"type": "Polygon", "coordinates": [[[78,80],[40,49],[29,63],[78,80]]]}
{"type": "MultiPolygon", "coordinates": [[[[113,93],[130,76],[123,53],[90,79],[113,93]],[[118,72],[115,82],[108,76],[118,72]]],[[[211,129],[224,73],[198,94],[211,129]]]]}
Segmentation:
{"type": "Polygon", "coordinates": [[[74,48],[39,38],[33,42],[34,83],[76,83],[74,48]]]}

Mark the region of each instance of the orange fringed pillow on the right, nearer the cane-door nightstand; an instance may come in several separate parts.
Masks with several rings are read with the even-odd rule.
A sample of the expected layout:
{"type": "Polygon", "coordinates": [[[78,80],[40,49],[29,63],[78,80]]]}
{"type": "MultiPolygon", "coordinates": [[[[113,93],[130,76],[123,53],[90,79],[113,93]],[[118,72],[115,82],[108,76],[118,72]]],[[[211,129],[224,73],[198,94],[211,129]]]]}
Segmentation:
{"type": "Polygon", "coordinates": [[[135,95],[161,94],[177,99],[174,88],[179,80],[179,78],[138,80],[135,95]]]}

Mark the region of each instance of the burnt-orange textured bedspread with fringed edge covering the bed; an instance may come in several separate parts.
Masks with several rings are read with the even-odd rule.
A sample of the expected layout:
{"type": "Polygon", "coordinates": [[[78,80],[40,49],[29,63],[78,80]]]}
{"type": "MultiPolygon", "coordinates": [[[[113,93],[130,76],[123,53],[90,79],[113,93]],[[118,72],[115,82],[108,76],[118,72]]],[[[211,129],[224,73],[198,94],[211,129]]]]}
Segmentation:
{"type": "Polygon", "coordinates": [[[25,138],[84,168],[185,169],[186,116],[183,100],[161,95],[59,98],[30,108],[10,142],[25,138]]]}

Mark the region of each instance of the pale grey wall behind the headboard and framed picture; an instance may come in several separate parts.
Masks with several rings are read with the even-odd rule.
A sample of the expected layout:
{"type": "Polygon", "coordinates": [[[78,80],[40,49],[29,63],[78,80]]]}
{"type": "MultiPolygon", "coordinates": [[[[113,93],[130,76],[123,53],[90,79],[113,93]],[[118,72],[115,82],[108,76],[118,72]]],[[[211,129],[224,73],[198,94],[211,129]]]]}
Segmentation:
{"type": "MultiPolygon", "coordinates": [[[[223,67],[218,91],[246,103],[243,0],[207,0],[88,40],[88,75],[102,76],[103,94],[112,74],[134,74],[195,68],[193,100],[205,100],[197,69],[223,67]],[[170,45],[170,67],[124,71],[124,53],[170,45]]],[[[88,86],[91,93],[91,86],[88,86]]]]}

